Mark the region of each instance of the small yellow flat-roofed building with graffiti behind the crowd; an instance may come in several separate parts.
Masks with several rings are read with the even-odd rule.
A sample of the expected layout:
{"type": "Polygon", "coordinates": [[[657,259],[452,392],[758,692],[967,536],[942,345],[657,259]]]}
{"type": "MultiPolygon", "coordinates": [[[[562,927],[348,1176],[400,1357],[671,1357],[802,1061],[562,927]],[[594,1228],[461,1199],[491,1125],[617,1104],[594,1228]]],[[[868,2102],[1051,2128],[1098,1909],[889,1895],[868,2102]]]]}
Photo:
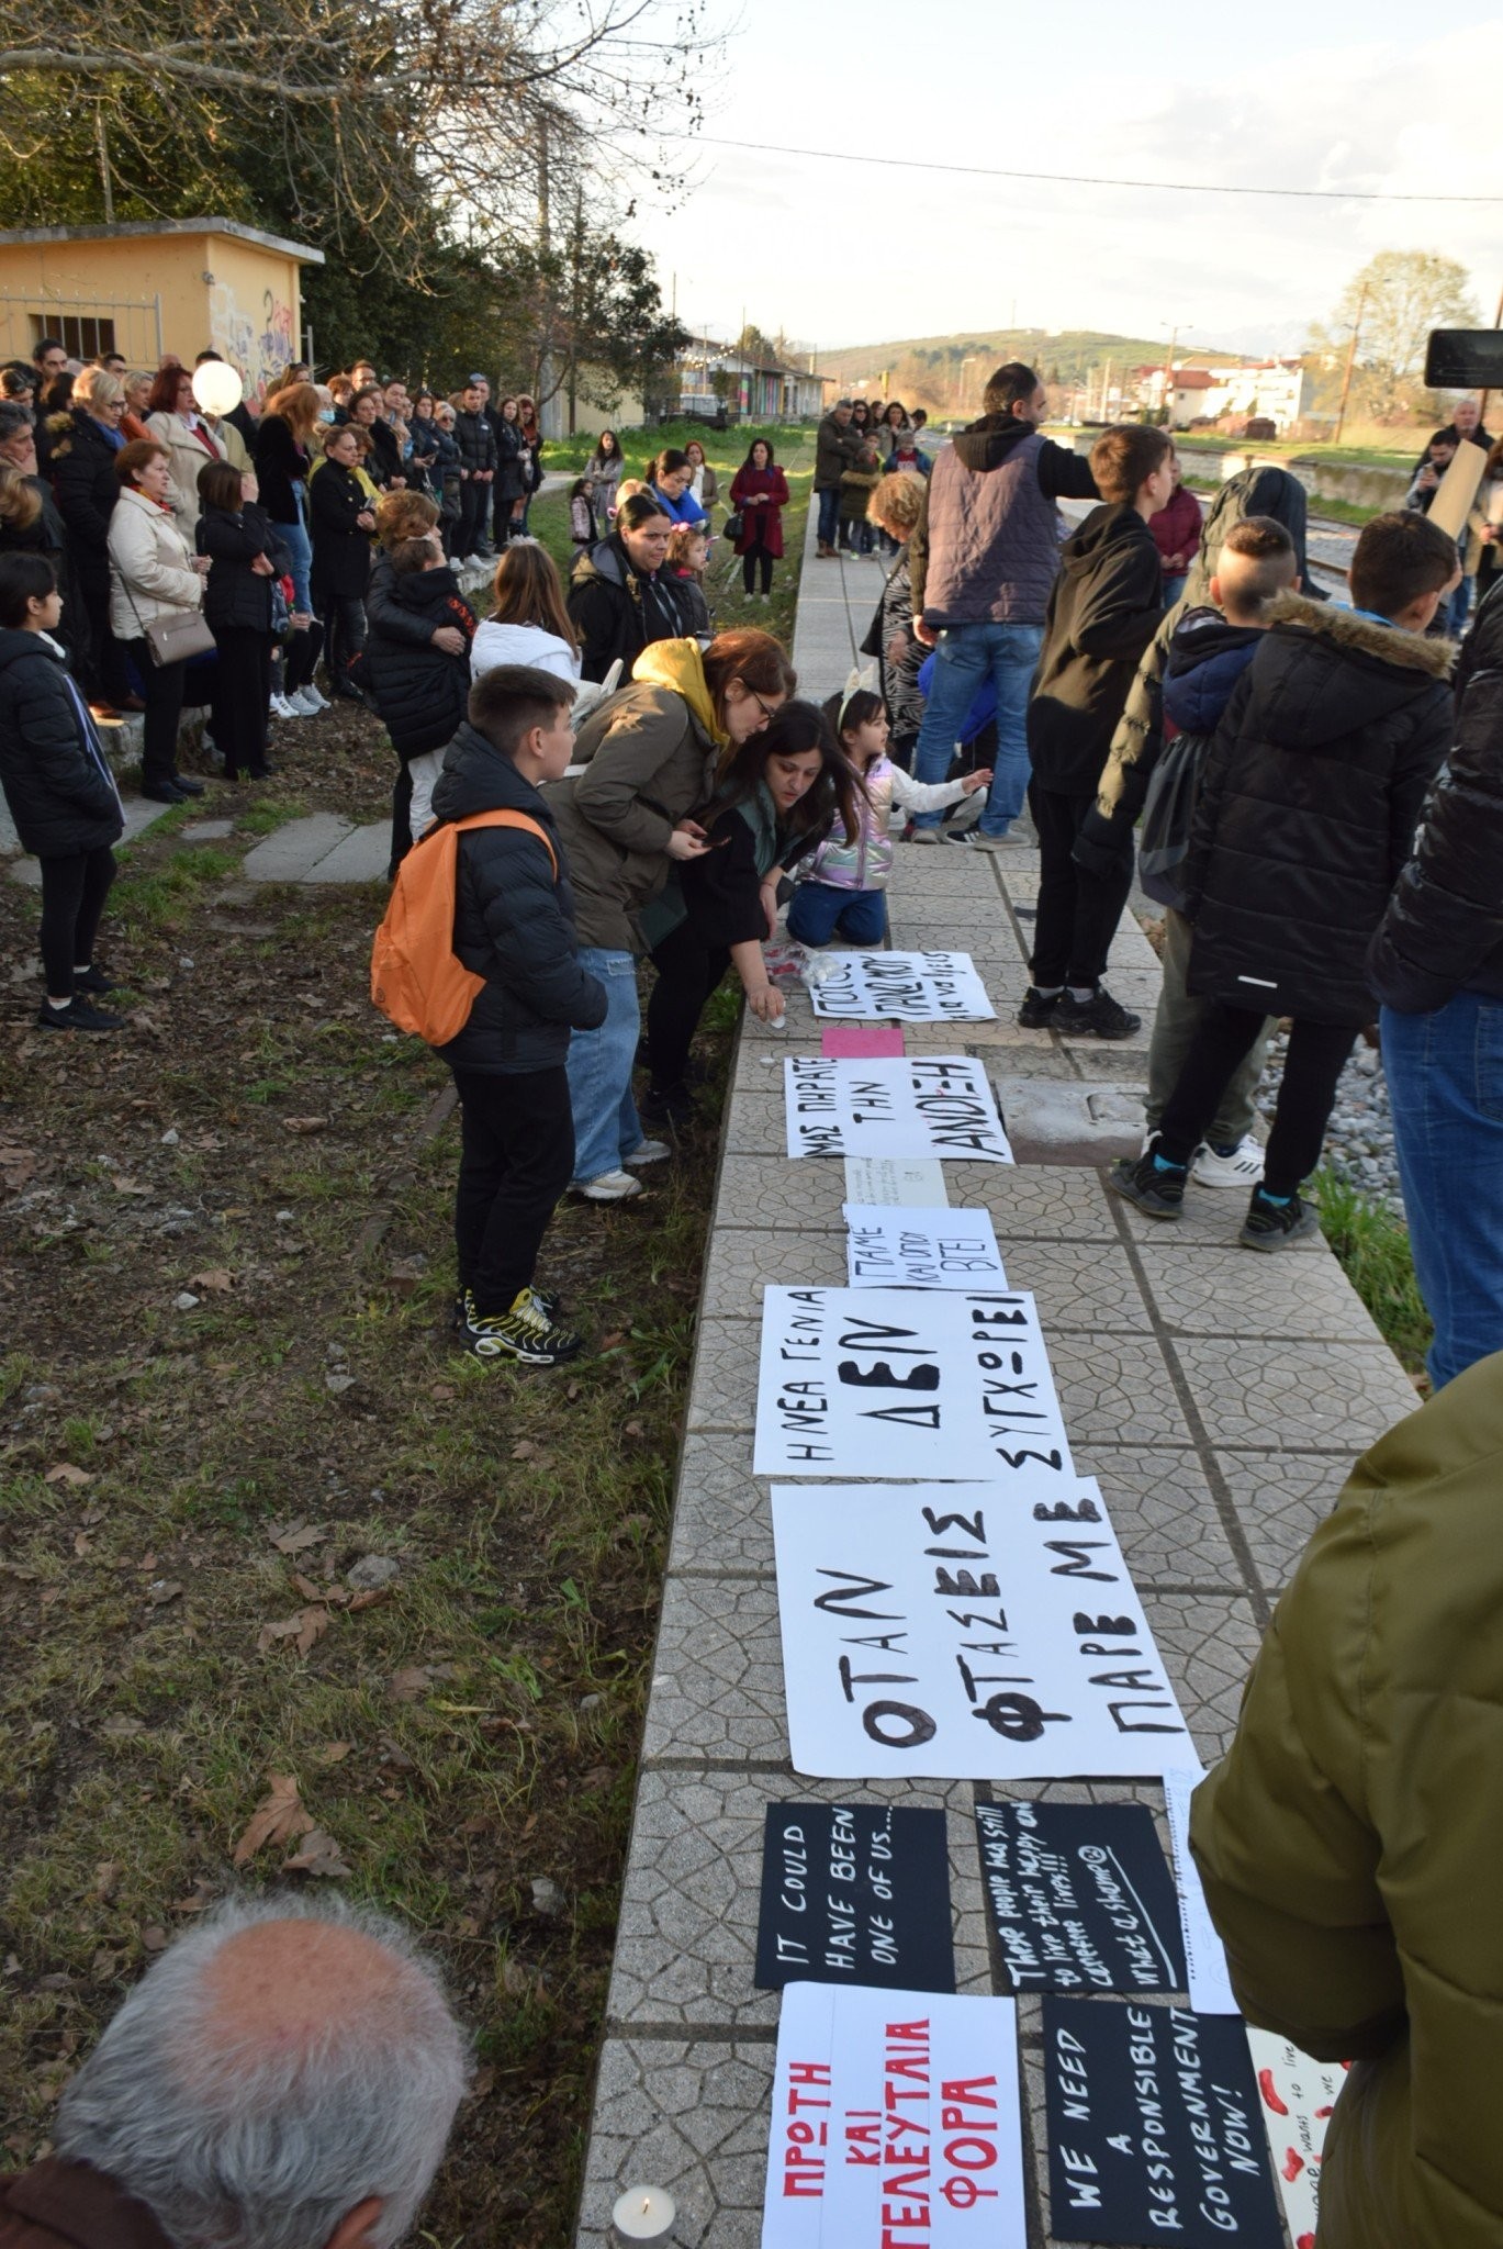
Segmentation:
{"type": "Polygon", "coordinates": [[[187,367],[218,351],[266,398],[310,355],[299,281],[322,263],[322,250],[234,218],[20,227],[0,234],[0,358],[29,360],[45,335],[79,360],[119,351],[146,371],[166,351],[187,367]]]}

